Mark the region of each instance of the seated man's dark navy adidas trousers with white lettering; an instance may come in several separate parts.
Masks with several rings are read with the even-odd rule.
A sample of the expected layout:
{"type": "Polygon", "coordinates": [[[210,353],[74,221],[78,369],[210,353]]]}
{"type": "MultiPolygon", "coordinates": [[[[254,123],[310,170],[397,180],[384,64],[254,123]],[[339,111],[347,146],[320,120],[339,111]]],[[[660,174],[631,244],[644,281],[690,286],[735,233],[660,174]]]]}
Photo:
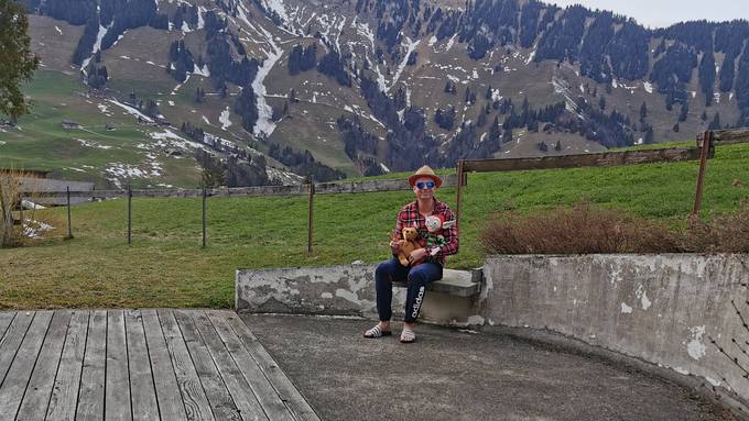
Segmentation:
{"type": "Polygon", "coordinates": [[[419,318],[426,284],[438,279],[442,279],[442,266],[436,263],[422,263],[419,266],[405,267],[395,257],[380,263],[374,270],[377,312],[380,321],[389,321],[392,315],[392,281],[406,282],[404,321],[413,323],[419,318]]]}

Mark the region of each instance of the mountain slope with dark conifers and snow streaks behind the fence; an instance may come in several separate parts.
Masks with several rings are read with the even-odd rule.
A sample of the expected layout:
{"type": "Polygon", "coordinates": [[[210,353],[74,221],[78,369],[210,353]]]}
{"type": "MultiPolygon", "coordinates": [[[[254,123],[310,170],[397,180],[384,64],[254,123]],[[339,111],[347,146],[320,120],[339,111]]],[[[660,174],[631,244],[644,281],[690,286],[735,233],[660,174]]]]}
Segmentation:
{"type": "MultiPolygon", "coordinates": [[[[690,139],[749,114],[745,21],[650,31],[609,12],[524,0],[26,4],[44,14],[31,16],[31,33],[47,77],[80,77],[88,87],[70,86],[69,96],[86,99],[63,108],[40,89],[45,77],[30,86],[36,111],[19,122],[23,131],[0,133],[8,139],[0,147],[17,149],[11,160],[24,166],[44,165],[20,145],[39,142],[30,133],[43,112],[115,126],[122,142],[126,130],[143,132],[132,144],[162,142],[164,156],[151,162],[181,174],[172,176],[177,185],[197,182],[198,145],[260,168],[253,181],[289,171],[332,179],[690,139]],[[122,115],[127,104],[162,125],[122,115]]],[[[86,149],[70,142],[84,133],[55,135],[86,149]]],[[[131,171],[135,182],[173,184],[138,155],[47,167],[121,185],[106,174],[131,165],[141,169],[131,171]]]]}

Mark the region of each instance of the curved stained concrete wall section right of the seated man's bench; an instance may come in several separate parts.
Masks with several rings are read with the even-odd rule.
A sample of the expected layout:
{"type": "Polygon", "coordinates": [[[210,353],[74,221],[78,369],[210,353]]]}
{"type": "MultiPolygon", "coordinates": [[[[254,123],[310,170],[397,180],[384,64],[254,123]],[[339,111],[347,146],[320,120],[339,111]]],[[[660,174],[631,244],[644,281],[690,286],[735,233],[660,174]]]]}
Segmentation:
{"type": "Polygon", "coordinates": [[[749,256],[497,256],[476,309],[488,326],[544,329],[697,376],[749,401],[749,256]],[[712,343],[715,341],[715,344],[712,343]]]}

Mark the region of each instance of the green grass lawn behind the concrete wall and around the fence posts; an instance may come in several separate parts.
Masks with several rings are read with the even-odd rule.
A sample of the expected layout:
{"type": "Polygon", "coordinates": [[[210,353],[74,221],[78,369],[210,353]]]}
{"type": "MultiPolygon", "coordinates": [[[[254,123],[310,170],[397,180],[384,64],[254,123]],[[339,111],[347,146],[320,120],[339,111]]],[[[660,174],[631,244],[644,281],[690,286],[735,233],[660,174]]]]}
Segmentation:
{"type": "MultiPolygon", "coordinates": [[[[480,266],[477,239],[498,211],[533,212],[582,200],[683,225],[698,163],[474,174],[465,190],[460,253],[453,268],[480,266]]],[[[306,254],[306,198],[213,198],[208,247],[199,199],[134,199],[133,244],[126,201],[73,208],[74,240],[63,241],[65,209],[46,211],[55,239],[0,251],[0,308],[231,307],[238,268],[322,266],[388,257],[397,210],[413,193],[315,197],[315,252],[306,254]]],[[[455,189],[437,193],[455,209],[455,189]]],[[[749,197],[749,145],[723,146],[708,162],[705,215],[749,197]]]]}

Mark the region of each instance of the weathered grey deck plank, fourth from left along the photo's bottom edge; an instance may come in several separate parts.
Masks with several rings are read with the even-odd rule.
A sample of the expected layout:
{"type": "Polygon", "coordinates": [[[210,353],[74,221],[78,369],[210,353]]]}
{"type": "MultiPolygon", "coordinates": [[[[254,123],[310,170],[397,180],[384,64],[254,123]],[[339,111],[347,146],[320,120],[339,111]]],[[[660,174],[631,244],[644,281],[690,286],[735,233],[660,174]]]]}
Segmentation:
{"type": "Polygon", "coordinates": [[[107,311],[94,311],[88,320],[86,354],[80,373],[77,421],[104,419],[105,364],[107,361],[107,311]]]}

